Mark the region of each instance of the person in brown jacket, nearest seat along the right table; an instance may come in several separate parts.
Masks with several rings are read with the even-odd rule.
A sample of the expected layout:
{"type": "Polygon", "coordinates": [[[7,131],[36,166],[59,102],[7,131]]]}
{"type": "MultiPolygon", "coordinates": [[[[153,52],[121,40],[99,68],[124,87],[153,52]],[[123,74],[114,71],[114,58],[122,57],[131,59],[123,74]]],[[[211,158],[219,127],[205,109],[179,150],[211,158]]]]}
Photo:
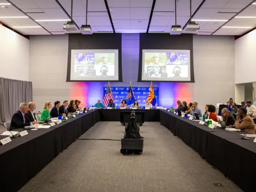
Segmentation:
{"type": "Polygon", "coordinates": [[[244,107],[240,107],[238,109],[238,116],[237,120],[235,121],[234,125],[229,125],[231,128],[241,129],[242,131],[245,131],[248,133],[255,134],[255,123],[251,119],[251,117],[247,114],[247,109],[244,107]]]}

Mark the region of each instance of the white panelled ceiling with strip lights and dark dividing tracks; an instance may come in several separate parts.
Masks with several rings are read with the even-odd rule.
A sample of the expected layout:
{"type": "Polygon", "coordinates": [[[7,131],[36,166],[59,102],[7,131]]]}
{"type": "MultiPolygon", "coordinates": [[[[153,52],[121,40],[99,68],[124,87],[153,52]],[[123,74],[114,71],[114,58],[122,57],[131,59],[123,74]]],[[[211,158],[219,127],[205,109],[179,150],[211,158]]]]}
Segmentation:
{"type": "MultiPolygon", "coordinates": [[[[184,27],[190,19],[190,0],[176,2],[177,24],[184,27]]],[[[252,4],[254,2],[255,0],[192,0],[192,19],[226,20],[196,21],[200,24],[197,34],[242,35],[251,30],[256,27],[256,5],[252,4]]],[[[147,30],[169,33],[171,26],[175,25],[174,10],[174,0],[88,0],[87,24],[91,25],[94,33],[113,33],[113,28],[115,32],[123,33],[145,33],[147,30]],[[153,5],[155,6],[151,15],[153,5]]],[[[64,34],[63,24],[66,21],[37,20],[70,19],[70,16],[71,0],[0,0],[0,22],[11,28],[37,26],[14,28],[24,35],[64,34]],[[11,5],[1,5],[3,3],[11,5]],[[1,18],[6,16],[27,18],[1,18]]],[[[73,21],[78,27],[86,24],[86,0],[73,0],[73,21]]]]}

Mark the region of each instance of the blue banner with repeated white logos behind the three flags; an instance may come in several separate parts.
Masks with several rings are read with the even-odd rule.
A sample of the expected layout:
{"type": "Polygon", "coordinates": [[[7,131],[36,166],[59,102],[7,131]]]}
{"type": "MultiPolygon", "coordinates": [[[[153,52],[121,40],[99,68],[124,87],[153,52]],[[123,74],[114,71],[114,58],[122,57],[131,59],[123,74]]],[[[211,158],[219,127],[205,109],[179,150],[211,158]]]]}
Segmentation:
{"type": "MultiPolygon", "coordinates": [[[[126,96],[129,91],[129,87],[111,87],[111,91],[113,94],[114,98],[114,103],[115,103],[115,108],[118,108],[119,105],[121,104],[122,100],[126,101],[126,96]]],[[[106,94],[108,87],[104,87],[104,95],[106,94]]],[[[140,107],[144,107],[146,104],[146,99],[149,94],[150,87],[133,87],[133,93],[135,98],[138,100],[138,103],[140,107]]],[[[154,93],[155,93],[155,99],[156,99],[156,105],[159,106],[158,104],[158,87],[154,87],[154,93]]]]}

